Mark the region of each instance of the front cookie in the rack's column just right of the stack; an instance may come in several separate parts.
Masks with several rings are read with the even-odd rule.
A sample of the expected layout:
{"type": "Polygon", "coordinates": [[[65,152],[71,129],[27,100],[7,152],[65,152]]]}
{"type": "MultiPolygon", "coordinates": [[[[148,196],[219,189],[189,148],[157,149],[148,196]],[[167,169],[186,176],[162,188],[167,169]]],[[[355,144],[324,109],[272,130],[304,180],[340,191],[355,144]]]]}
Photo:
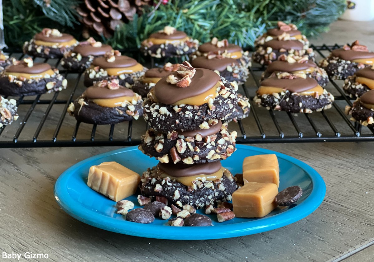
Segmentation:
{"type": "Polygon", "coordinates": [[[279,74],[261,82],[254,102],[266,109],[291,113],[312,113],[329,109],[334,96],[310,77],[279,74]]]}

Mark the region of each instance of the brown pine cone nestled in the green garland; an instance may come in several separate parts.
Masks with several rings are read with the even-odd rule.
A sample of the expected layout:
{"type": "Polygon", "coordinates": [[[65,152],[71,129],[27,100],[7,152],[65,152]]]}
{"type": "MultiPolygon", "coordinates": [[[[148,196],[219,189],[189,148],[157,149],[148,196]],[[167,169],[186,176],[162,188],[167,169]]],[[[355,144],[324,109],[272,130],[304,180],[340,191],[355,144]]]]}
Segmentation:
{"type": "MultiPolygon", "coordinates": [[[[135,13],[141,14],[144,5],[151,0],[84,0],[77,7],[86,28],[109,38],[117,25],[132,20],[135,13]]],[[[85,35],[87,37],[87,35],[85,35]]]]}

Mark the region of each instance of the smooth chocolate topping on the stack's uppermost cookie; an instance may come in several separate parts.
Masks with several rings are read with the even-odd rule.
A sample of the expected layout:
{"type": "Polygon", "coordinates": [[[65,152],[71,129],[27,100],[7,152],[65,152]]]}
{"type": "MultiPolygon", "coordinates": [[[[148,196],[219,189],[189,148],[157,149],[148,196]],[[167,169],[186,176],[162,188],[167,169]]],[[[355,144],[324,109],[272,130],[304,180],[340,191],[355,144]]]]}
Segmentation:
{"type": "MultiPolygon", "coordinates": [[[[171,74],[176,74],[176,72],[170,72],[169,75],[171,74]]],[[[166,105],[171,105],[179,100],[202,94],[213,88],[220,81],[219,75],[209,69],[203,68],[196,68],[196,73],[191,79],[189,87],[179,88],[176,85],[166,82],[166,78],[161,78],[154,86],[154,94],[157,100],[166,105]]]]}

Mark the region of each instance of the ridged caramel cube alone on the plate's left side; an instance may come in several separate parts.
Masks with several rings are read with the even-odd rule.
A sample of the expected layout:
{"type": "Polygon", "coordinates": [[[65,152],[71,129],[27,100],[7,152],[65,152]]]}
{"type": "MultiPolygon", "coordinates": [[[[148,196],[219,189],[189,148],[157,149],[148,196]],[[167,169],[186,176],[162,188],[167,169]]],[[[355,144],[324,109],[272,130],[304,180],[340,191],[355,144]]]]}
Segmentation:
{"type": "Polygon", "coordinates": [[[117,162],[103,162],[91,166],[87,185],[114,201],[135,194],[140,175],[117,162]]]}

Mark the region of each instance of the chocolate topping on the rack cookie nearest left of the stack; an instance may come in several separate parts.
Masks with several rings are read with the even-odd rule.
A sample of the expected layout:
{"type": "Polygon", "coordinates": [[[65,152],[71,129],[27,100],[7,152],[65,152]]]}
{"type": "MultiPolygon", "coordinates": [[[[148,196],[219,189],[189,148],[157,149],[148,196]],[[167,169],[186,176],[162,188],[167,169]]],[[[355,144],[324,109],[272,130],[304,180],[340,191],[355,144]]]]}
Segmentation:
{"type": "Polygon", "coordinates": [[[83,97],[87,97],[88,99],[111,99],[122,96],[134,96],[134,92],[122,86],[118,89],[92,86],[87,88],[83,93],[83,97]]]}

